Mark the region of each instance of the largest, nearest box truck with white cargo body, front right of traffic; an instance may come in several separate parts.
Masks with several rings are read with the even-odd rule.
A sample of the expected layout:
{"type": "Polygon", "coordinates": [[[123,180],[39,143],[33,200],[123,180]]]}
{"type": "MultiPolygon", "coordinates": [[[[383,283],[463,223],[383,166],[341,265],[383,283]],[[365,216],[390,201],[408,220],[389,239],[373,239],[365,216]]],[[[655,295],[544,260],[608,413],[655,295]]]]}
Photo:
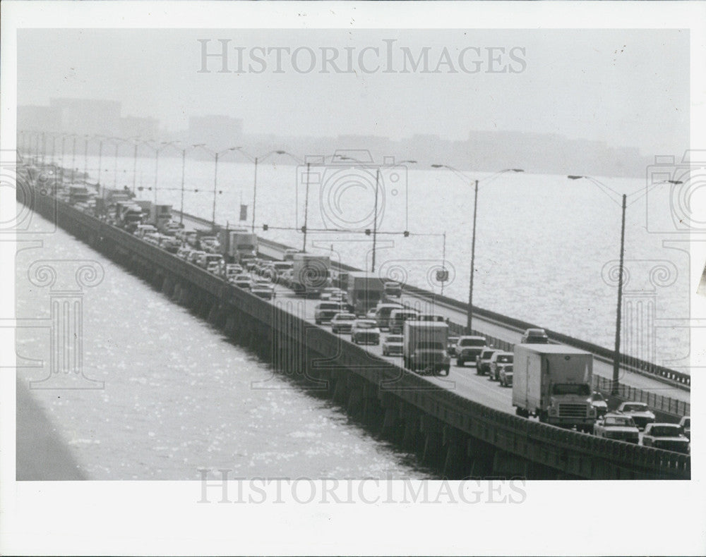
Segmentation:
{"type": "Polygon", "coordinates": [[[558,344],[516,344],[513,406],[518,416],[593,431],[593,356],[558,344]]]}

